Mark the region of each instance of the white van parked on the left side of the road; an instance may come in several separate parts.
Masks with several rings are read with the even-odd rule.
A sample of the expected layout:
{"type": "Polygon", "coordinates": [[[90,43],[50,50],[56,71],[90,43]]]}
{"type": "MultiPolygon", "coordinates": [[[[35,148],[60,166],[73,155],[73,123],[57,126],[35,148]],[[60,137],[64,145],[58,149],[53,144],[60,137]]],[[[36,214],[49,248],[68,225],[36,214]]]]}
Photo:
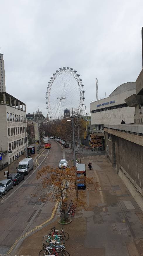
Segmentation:
{"type": "Polygon", "coordinates": [[[33,169],[33,158],[24,158],[16,169],[19,173],[28,174],[33,169]]]}

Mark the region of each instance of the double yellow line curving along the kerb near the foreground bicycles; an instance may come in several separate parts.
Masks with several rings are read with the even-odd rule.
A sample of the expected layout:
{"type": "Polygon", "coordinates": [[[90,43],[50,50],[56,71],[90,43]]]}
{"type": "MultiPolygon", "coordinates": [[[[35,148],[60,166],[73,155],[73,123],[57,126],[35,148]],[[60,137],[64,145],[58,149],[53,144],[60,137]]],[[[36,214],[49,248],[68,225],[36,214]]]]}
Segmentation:
{"type": "Polygon", "coordinates": [[[57,207],[58,207],[58,202],[56,202],[56,204],[55,204],[55,207],[54,207],[54,210],[53,210],[53,212],[52,212],[51,217],[50,217],[48,220],[46,220],[45,222],[43,222],[41,225],[39,225],[39,226],[35,227],[34,229],[30,230],[29,232],[25,233],[25,235],[23,235],[22,237],[19,237],[19,238],[15,241],[15,243],[11,246],[11,248],[10,248],[10,250],[7,252],[7,254],[10,254],[10,253],[11,253],[11,251],[14,249],[15,245],[16,245],[16,244],[18,243],[18,241],[20,241],[23,237],[29,235],[29,234],[32,233],[33,231],[35,231],[35,230],[37,230],[38,228],[44,226],[46,223],[48,223],[50,220],[52,220],[52,219],[54,218],[54,215],[55,215],[55,212],[56,212],[57,207]]]}

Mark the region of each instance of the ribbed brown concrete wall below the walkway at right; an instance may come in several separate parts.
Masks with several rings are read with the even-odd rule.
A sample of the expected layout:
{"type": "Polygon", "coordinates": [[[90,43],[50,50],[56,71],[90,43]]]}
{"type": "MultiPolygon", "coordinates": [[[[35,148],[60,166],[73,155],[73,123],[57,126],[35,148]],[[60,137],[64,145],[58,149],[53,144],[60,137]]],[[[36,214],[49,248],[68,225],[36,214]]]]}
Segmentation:
{"type": "MultiPolygon", "coordinates": [[[[128,135],[132,136],[132,134],[128,135]]],[[[106,156],[112,163],[112,166],[117,168],[116,160],[118,156],[116,149],[114,147],[114,141],[116,140],[116,138],[118,138],[118,168],[122,169],[122,171],[126,174],[128,179],[130,179],[132,184],[134,184],[134,186],[143,195],[143,146],[128,141],[124,138],[117,137],[113,134],[111,134],[111,141],[108,139],[108,137],[109,133],[105,132],[106,156]]]]}

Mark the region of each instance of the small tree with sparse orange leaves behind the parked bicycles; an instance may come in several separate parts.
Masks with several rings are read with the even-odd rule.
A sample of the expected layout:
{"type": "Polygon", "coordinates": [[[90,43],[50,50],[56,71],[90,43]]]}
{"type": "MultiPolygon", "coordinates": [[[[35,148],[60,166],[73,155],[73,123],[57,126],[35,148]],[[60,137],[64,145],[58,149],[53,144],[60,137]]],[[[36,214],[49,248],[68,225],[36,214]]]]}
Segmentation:
{"type": "MultiPolygon", "coordinates": [[[[86,208],[85,203],[85,191],[80,192],[78,200],[76,199],[75,193],[75,167],[59,169],[53,168],[51,166],[44,166],[37,172],[37,180],[42,179],[42,188],[46,189],[47,186],[51,185],[49,192],[47,192],[46,197],[40,196],[42,202],[46,202],[47,200],[50,202],[62,202],[62,211],[64,213],[64,221],[68,222],[67,219],[67,197],[66,197],[66,181],[68,183],[68,196],[73,200],[73,202],[77,203],[77,207],[79,209],[86,208]],[[83,194],[84,196],[83,196],[83,194]]],[[[80,179],[80,178],[78,178],[80,179]]],[[[94,189],[97,190],[99,187],[98,182],[94,182],[93,178],[88,178],[85,176],[86,187],[90,186],[90,184],[94,184],[94,189]]],[[[38,191],[37,191],[38,193],[38,191]]],[[[34,196],[37,196],[37,193],[34,196]]]]}

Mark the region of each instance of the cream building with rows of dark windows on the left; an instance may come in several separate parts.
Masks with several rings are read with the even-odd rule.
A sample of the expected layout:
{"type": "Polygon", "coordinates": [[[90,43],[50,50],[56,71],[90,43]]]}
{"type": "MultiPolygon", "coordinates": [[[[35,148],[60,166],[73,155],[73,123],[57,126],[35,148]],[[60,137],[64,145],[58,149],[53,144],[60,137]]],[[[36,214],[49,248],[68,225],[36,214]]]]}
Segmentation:
{"type": "Polygon", "coordinates": [[[26,106],[6,92],[0,92],[0,168],[26,150],[26,106]],[[9,151],[9,152],[8,152],[9,151]]]}

